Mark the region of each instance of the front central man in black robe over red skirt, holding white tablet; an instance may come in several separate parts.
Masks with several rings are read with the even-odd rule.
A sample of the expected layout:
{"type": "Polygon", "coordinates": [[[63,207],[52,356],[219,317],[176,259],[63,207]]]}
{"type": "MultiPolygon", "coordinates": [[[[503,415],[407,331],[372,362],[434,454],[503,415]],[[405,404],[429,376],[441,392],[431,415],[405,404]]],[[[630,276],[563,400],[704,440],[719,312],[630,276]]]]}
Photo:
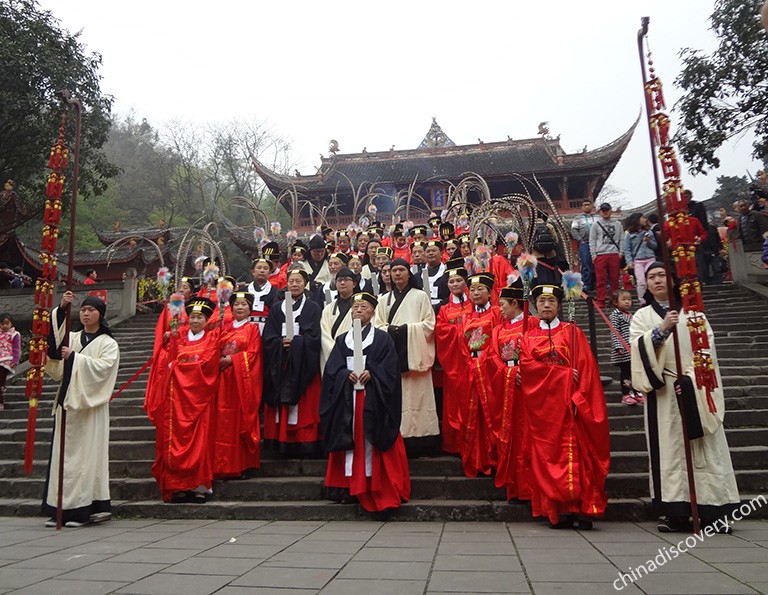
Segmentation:
{"type": "Polygon", "coordinates": [[[408,501],[411,479],[400,434],[397,352],[389,334],[371,324],[377,304],[367,292],[353,297],[364,370],[358,376],[352,369],[353,332],[347,331],[336,339],[325,366],[320,419],[329,453],[326,496],[338,502],[356,498],[369,512],[388,513],[408,501]]]}

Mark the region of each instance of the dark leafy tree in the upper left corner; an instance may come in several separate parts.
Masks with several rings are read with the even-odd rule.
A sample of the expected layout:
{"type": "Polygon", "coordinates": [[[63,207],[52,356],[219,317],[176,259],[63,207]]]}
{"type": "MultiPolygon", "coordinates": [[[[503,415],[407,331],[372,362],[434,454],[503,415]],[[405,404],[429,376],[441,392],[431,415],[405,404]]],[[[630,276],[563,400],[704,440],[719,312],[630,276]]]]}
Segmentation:
{"type": "MultiPolygon", "coordinates": [[[[62,29],[36,0],[0,2],[0,176],[15,180],[22,198],[42,203],[48,153],[64,111],[58,93],[64,89],[83,104],[79,194],[103,192],[115,175],[100,150],[112,108],[112,97],[99,86],[100,65],[101,56],[87,53],[78,35],[62,29]]],[[[71,146],[74,112],[69,112],[71,146]]],[[[30,209],[30,217],[37,213],[30,209]]]]}

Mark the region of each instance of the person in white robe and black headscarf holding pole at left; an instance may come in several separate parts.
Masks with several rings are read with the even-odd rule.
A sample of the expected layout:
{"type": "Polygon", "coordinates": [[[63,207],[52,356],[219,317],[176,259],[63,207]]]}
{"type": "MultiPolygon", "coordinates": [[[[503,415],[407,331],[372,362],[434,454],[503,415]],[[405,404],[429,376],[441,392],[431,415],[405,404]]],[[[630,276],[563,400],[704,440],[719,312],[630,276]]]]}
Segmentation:
{"type": "Polygon", "coordinates": [[[120,350],[104,322],[106,305],[88,296],[80,307],[83,329],[71,332],[63,346],[66,307],[74,294],[63,294],[51,312],[52,337],[45,371],[60,381],[51,457],[43,495],[45,525],[56,526],[62,411],[66,411],[62,523],[81,527],[111,518],[109,495],[109,401],[117,380],[120,350]]]}

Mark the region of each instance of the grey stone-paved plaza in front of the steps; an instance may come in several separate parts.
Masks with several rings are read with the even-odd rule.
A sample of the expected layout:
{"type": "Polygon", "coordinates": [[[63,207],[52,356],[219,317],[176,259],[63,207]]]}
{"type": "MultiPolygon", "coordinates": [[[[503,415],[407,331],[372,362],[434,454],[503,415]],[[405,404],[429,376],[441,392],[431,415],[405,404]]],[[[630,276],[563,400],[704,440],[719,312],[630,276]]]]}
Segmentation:
{"type": "Polygon", "coordinates": [[[768,522],[758,520],[627,586],[620,570],[686,535],[607,522],[580,533],[534,522],[146,519],[57,532],[43,521],[0,518],[0,593],[768,593],[768,522]]]}

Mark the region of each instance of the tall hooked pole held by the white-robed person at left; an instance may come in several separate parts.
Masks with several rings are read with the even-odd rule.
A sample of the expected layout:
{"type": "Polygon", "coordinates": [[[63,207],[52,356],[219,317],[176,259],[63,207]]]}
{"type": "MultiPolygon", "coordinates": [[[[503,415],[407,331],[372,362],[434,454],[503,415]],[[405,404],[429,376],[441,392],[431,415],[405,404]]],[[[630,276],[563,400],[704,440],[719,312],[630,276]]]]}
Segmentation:
{"type": "MultiPolygon", "coordinates": [[[[72,168],[72,203],[70,204],[70,218],[69,218],[69,262],[67,263],[67,291],[72,291],[72,275],[75,271],[75,221],[77,206],[77,177],[80,173],[80,123],[82,120],[83,105],[79,99],[74,99],[69,91],[61,91],[59,93],[61,100],[67,106],[73,106],[75,108],[75,157],[74,165],[72,168]]],[[[67,304],[66,312],[64,313],[64,338],[61,342],[62,347],[69,347],[69,331],[71,327],[72,304],[67,304]]],[[[55,321],[53,321],[55,324],[55,321]]],[[[56,530],[61,530],[62,521],[62,504],[64,499],[64,447],[66,446],[66,432],[67,432],[67,411],[64,409],[64,403],[61,405],[61,433],[59,434],[59,485],[58,495],[56,497],[56,530]]]]}

